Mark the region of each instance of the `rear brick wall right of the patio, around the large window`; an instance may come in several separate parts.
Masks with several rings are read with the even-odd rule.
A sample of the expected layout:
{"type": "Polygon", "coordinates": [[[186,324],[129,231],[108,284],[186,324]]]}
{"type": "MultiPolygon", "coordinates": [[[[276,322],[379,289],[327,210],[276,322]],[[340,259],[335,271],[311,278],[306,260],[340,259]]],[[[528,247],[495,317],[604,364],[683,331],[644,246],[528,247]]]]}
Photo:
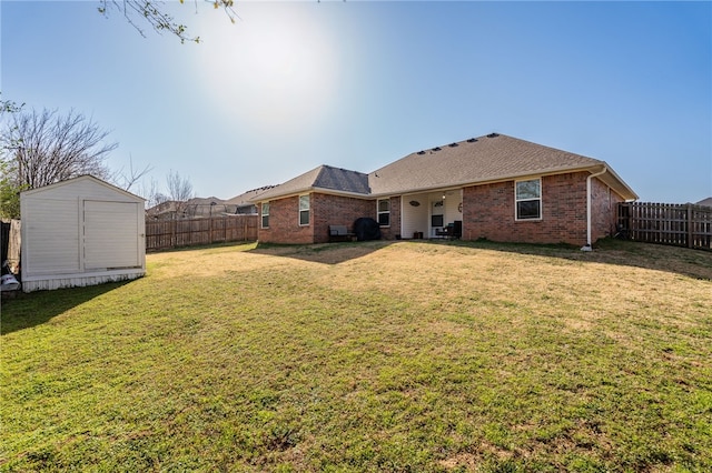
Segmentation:
{"type": "Polygon", "coordinates": [[[463,239],[583,245],[587,175],[576,172],[543,177],[542,220],[536,221],[515,221],[514,181],[465,188],[463,239]]]}

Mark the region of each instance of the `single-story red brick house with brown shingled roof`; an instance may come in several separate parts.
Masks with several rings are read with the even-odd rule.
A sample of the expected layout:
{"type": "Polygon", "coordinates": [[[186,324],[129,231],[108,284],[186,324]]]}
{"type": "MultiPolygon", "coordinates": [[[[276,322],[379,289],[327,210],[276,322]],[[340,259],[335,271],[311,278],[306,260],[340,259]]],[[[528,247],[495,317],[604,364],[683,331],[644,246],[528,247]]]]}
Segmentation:
{"type": "Polygon", "coordinates": [[[612,234],[637,195],[605,163],[491,133],[411,153],[368,174],[320,165],[254,198],[259,241],[328,241],[329,225],[378,221],[382,238],[571,243],[612,234]]]}

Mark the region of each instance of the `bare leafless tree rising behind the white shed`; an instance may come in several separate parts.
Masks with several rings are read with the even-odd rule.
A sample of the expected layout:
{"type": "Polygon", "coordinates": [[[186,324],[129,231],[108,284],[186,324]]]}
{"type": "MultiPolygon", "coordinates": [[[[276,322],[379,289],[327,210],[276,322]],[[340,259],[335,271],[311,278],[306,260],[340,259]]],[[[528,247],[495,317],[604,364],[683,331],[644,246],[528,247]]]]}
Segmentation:
{"type": "MultiPolygon", "coordinates": [[[[22,189],[36,189],[81,174],[110,177],[105,160],[118,143],[107,142],[109,132],[80,113],[57,111],[20,112],[2,133],[14,143],[14,181],[22,189]]],[[[4,143],[3,143],[4,144],[4,143]]]]}

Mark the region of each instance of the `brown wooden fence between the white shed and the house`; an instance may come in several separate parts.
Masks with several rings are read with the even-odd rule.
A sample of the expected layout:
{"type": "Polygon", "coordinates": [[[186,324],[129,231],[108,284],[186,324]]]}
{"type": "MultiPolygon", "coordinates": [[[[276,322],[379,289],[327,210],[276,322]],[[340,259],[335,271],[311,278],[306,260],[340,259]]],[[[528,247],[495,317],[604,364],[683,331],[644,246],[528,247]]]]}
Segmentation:
{"type": "Polygon", "coordinates": [[[146,251],[230,241],[256,241],[257,215],[146,220],[146,251]]]}

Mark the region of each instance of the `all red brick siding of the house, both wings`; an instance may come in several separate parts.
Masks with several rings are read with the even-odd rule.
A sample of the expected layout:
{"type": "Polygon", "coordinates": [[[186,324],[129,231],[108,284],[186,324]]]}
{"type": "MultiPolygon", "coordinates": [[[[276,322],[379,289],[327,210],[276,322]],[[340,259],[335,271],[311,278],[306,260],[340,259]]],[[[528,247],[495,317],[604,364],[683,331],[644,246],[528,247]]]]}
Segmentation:
{"type": "MultiPolygon", "coordinates": [[[[542,219],[515,221],[514,181],[473,185],[463,190],[463,240],[486,238],[503,242],[586,243],[587,172],[542,178],[542,219]]],[[[615,210],[623,199],[599,179],[592,180],[591,238],[612,234],[615,210]]],[[[299,225],[299,198],[289,197],[269,204],[269,229],[259,229],[259,241],[270,243],[323,243],[329,225],[353,231],[360,217],[377,219],[376,200],[310,194],[309,225],[299,225]]],[[[261,212],[261,210],[260,210],[261,212]]],[[[390,198],[390,225],[380,229],[384,240],[400,233],[400,197],[390,198]]],[[[261,220],[260,220],[261,221],[261,220]]]]}

